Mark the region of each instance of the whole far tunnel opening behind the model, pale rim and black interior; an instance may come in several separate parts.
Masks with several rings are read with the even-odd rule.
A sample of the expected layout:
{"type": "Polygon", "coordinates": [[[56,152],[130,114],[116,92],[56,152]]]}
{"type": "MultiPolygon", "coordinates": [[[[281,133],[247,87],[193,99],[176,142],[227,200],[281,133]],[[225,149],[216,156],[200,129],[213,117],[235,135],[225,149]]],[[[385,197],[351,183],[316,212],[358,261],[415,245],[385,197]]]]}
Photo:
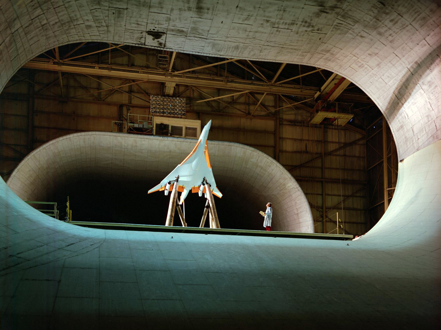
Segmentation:
{"type": "MultiPolygon", "coordinates": [[[[66,216],[69,196],[74,221],[164,225],[171,194],[147,191],[187,156],[194,143],[194,139],[75,133],[34,150],[7,184],[22,200],[57,202],[60,220],[66,216]]],[[[272,202],[273,230],[313,232],[303,191],[277,161],[254,148],[221,141],[209,141],[209,155],[223,194],[214,197],[221,228],[263,230],[259,211],[272,202]]],[[[187,226],[199,227],[205,203],[203,196],[188,194],[187,226]]],[[[182,225],[177,211],[174,225],[182,225]]]]}

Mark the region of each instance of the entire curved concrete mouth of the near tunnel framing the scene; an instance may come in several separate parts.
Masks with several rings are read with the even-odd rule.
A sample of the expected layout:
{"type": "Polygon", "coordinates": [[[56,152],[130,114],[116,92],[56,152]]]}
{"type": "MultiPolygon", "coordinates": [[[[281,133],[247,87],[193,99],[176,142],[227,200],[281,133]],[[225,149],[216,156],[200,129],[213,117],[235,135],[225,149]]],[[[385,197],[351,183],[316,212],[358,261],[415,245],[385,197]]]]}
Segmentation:
{"type": "Polygon", "coordinates": [[[84,40],[326,68],[388,119],[404,159],[388,211],[349,243],[171,238],[56,222],[0,182],[1,326],[439,328],[438,2],[179,4],[2,0],[0,86],[34,55],[84,40]]]}

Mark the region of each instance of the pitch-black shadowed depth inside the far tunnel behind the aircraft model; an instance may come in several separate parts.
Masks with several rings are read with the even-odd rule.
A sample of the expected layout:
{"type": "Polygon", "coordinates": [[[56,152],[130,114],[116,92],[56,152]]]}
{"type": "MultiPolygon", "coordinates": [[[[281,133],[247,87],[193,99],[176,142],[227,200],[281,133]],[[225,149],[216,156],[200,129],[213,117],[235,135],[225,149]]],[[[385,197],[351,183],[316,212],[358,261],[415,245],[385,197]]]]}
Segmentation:
{"type": "MultiPolygon", "coordinates": [[[[61,206],[60,219],[65,216],[63,205],[69,196],[74,221],[164,225],[171,193],[168,196],[163,191],[147,194],[159,180],[112,176],[70,178],[66,183],[54,187],[47,199],[61,206]]],[[[265,204],[258,205],[253,192],[247,194],[237,191],[223,183],[218,183],[218,187],[224,194],[222,198],[214,197],[222,228],[262,230],[263,217],[258,211],[265,210],[265,204]]],[[[204,195],[188,194],[184,203],[188,227],[199,227],[205,203],[204,195]]],[[[176,210],[173,224],[181,225],[176,210]]],[[[205,227],[209,227],[208,218],[205,227]]]]}

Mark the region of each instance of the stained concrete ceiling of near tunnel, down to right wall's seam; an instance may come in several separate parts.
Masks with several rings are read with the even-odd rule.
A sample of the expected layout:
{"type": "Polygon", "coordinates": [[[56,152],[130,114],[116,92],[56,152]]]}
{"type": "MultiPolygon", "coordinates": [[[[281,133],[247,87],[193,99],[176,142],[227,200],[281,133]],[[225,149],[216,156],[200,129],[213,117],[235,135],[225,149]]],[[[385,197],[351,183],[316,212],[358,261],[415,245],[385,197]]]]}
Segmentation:
{"type": "Polygon", "coordinates": [[[84,40],[318,66],[374,100],[401,159],[440,139],[440,100],[431,96],[440,76],[439,14],[432,1],[9,3],[1,84],[42,51],[84,40]]]}

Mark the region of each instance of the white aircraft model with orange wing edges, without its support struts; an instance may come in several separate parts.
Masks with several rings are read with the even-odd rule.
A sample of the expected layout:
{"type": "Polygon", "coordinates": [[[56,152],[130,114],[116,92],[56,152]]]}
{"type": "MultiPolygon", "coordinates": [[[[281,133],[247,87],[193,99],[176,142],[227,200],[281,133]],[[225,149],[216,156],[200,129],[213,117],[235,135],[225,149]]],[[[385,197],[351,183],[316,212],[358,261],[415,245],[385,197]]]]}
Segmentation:
{"type": "Polygon", "coordinates": [[[176,166],[168,176],[157,186],[148,191],[148,194],[155,191],[164,191],[165,195],[172,190],[176,179],[178,180],[178,191],[182,192],[179,204],[182,204],[188,192],[199,193],[199,196],[206,193],[206,183],[211,186],[213,195],[221,198],[222,194],[216,187],[213,172],[211,170],[210,158],[208,157],[207,137],[211,126],[211,120],[205,125],[193,151],[176,166]],[[214,187],[214,188],[213,188],[214,187]]]}

